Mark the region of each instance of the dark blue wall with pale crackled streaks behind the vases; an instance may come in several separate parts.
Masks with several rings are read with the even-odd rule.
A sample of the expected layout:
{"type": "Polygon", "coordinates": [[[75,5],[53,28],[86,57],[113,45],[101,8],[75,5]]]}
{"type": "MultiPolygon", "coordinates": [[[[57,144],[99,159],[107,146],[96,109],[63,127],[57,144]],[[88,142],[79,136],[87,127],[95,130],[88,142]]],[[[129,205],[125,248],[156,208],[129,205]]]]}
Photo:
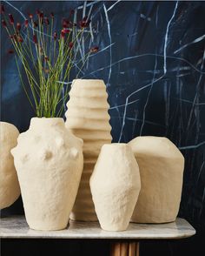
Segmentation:
{"type": "MultiPolygon", "coordinates": [[[[14,1],[5,3],[5,8],[21,22],[36,9],[48,14],[54,11],[58,20],[68,17],[70,9],[77,8],[81,16],[83,10],[86,14],[91,11],[96,25],[93,44],[99,45],[99,51],[89,58],[80,77],[102,78],[107,84],[113,141],[128,142],[138,135],[166,136],[182,151],[186,166],[179,216],[188,219],[200,234],[186,247],[202,245],[205,3],[14,1]]],[[[6,53],[10,43],[3,30],[1,36],[1,119],[25,131],[34,114],[19,82],[15,59],[6,53]]],[[[22,211],[20,202],[4,213],[15,211],[22,211]]],[[[165,246],[164,255],[176,255],[180,247],[165,246]]]]}

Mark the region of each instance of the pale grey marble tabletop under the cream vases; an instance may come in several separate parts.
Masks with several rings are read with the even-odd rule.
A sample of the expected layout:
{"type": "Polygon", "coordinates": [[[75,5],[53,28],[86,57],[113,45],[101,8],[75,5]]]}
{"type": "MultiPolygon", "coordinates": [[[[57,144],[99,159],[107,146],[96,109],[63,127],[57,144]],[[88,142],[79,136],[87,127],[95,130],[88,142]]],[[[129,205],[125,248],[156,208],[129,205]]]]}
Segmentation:
{"type": "Polygon", "coordinates": [[[130,223],[124,232],[103,231],[97,222],[69,221],[62,231],[31,230],[23,216],[0,219],[0,238],[9,239],[182,239],[195,234],[185,219],[167,224],[130,223]]]}

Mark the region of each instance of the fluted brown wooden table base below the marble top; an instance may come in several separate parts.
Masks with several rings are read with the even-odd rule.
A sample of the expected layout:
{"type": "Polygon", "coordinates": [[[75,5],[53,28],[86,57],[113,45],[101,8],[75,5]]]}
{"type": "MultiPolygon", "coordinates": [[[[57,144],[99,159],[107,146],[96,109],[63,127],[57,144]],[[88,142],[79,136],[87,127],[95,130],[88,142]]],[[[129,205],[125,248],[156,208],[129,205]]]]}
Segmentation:
{"type": "Polygon", "coordinates": [[[139,256],[140,243],[134,241],[111,242],[110,256],[139,256]]]}

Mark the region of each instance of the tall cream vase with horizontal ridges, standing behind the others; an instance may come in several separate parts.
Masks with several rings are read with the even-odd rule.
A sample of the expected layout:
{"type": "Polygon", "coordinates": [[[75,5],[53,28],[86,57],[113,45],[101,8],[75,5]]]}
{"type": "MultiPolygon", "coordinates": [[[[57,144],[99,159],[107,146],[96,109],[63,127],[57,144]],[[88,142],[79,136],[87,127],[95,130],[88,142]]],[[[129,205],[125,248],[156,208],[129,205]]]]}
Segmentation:
{"type": "Polygon", "coordinates": [[[70,219],[95,221],[89,178],[102,145],[111,142],[108,94],[102,80],[76,79],[69,97],[66,126],[84,141],[83,174],[70,219]]]}

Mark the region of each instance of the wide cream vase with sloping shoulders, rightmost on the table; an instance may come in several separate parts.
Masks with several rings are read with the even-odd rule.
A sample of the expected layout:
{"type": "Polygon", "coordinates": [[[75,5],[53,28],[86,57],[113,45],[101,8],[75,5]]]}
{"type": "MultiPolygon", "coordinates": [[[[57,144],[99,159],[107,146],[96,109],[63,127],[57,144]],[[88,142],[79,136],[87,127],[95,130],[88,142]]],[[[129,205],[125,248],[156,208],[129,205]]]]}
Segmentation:
{"type": "Polygon", "coordinates": [[[141,192],[132,221],[175,221],[179,211],[184,158],[177,147],[162,137],[137,137],[129,142],[140,167],[141,192]]]}

